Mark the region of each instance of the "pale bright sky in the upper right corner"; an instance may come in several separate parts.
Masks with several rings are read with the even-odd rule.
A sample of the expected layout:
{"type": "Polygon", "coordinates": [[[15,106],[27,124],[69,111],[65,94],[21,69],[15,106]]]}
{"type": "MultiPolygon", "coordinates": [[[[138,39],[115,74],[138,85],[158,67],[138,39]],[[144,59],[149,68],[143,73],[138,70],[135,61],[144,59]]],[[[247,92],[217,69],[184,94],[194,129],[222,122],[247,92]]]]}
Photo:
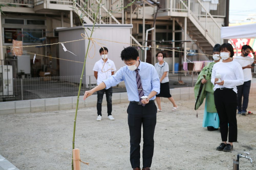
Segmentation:
{"type": "Polygon", "coordinates": [[[256,22],[256,0],[229,1],[229,23],[251,21],[256,22]]]}

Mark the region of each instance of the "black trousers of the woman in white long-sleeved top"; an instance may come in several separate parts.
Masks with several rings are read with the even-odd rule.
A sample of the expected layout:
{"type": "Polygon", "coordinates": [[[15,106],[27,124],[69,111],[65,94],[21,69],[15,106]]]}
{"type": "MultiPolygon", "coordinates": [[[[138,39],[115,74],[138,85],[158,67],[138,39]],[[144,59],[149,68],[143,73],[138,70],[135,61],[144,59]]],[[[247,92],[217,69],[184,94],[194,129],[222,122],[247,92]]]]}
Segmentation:
{"type": "Polygon", "coordinates": [[[230,89],[216,89],[214,102],[220,119],[220,133],[223,142],[237,141],[237,94],[230,89]],[[228,127],[229,126],[229,127],[228,127]]]}

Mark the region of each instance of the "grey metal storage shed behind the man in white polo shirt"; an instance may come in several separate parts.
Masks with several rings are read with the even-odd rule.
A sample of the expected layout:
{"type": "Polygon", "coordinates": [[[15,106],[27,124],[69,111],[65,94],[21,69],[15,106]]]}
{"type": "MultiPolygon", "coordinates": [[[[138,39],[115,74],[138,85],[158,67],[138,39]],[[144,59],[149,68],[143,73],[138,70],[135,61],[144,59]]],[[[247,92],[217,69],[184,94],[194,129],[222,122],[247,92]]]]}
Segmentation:
{"type": "MultiPolygon", "coordinates": [[[[89,28],[92,30],[91,24],[84,24],[85,28],[89,28]]],[[[125,64],[120,58],[120,53],[124,47],[130,46],[130,30],[132,28],[132,24],[97,24],[94,27],[94,32],[92,34],[92,38],[99,38],[102,40],[95,40],[98,43],[102,43],[103,47],[108,48],[108,58],[114,61],[116,69],[119,70],[120,67],[123,67],[125,64]],[[122,43],[115,43],[115,42],[123,42],[128,44],[122,43]]],[[[87,29],[87,34],[90,35],[91,31],[87,29]]],[[[72,40],[79,40],[83,37],[81,33],[85,34],[85,31],[82,26],[79,27],[72,27],[72,28],[64,28],[59,29],[59,42],[66,42],[72,40]]],[[[75,41],[70,43],[64,43],[66,49],[71,51],[75,55],[71,54],[68,51],[64,51],[61,44],[59,44],[59,57],[60,59],[67,59],[67,60],[75,60],[84,62],[85,54],[87,51],[87,45],[89,40],[81,40],[75,41]]],[[[100,46],[95,43],[95,51],[93,43],[90,42],[90,47],[92,46],[91,50],[89,51],[89,55],[87,56],[86,66],[84,70],[84,76],[92,76],[94,75],[93,66],[95,62],[101,59],[99,50],[100,46]],[[95,53],[94,53],[95,52],[95,53]],[[94,55],[95,54],[95,55],[94,55]]],[[[89,48],[90,49],[90,48],[89,48]]],[[[74,75],[81,75],[83,63],[72,62],[72,61],[65,61],[59,60],[59,68],[60,68],[60,76],[74,76],[74,75]]],[[[116,71],[115,71],[116,72],[116,71]]],[[[78,83],[80,80],[77,80],[78,83]]],[[[95,80],[94,80],[95,81],[95,80]]],[[[89,79],[83,79],[84,84],[89,84],[89,79]]]]}

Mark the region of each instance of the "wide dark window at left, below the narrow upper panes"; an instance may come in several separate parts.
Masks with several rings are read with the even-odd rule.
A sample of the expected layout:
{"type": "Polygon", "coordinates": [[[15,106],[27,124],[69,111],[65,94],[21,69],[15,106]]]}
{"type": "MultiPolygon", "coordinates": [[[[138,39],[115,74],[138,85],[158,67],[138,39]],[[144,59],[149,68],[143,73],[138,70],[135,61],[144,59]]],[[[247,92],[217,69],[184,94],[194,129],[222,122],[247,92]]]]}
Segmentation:
{"type": "Polygon", "coordinates": [[[4,43],[12,43],[13,40],[23,43],[42,43],[45,40],[43,29],[17,29],[4,28],[4,43]]]}

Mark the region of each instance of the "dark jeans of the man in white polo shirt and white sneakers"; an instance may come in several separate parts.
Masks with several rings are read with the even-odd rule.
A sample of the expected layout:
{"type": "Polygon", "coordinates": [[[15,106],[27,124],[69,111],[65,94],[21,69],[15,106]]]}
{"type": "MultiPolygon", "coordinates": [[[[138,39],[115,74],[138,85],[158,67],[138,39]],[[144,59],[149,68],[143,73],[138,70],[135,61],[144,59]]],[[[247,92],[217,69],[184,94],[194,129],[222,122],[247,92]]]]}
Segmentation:
{"type": "Polygon", "coordinates": [[[106,100],[107,100],[107,108],[108,108],[108,116],[111,115],[112,112],[112,87],[109,89],[102,89],[97,91],[97,113],[101,115],[101,104],[103,100],[104,92],[106,93],[106,100]]]}

